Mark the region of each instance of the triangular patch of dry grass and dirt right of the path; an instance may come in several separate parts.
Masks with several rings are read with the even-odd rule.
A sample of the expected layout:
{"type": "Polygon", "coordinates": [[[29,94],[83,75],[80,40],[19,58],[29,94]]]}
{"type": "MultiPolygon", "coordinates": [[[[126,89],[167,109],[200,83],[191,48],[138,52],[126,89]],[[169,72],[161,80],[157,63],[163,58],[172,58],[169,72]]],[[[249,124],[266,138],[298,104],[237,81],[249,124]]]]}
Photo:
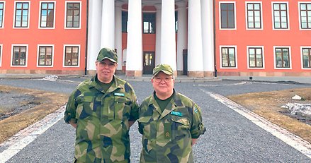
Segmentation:
{"type": "Polygon", "coordinates": [[[228,98],[311,143],[310,117],[302,116],[301,114],[290,115],[288,109],[281,108],[288,102],[311,104],[310,87],[231,95],[228,98]],[[304,100],[297,101],[291,99],[294,95],[300,95],[304,100]]]}

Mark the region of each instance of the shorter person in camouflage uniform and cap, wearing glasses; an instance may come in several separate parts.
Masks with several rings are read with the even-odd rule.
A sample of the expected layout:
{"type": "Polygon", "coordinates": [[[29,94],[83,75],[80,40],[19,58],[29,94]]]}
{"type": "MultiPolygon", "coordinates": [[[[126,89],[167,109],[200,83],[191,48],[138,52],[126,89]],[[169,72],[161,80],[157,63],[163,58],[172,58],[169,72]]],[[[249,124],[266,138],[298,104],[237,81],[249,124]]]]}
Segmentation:
{"type": "Polygon", "coordinates": [[[200,107],[174,90],[171,66],[153,69],[154,93],[139,109],[140,162],[193,162],[192,146],[205,132],[200,107]]]}

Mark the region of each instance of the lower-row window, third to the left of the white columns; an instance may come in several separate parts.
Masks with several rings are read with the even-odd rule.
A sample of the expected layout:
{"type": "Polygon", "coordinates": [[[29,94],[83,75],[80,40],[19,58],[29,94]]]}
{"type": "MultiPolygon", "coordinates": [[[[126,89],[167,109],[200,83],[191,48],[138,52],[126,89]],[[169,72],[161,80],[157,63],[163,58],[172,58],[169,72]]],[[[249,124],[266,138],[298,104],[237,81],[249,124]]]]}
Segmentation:
{"type": "Polygon", "coordinates": [[[13,46],[12,66],[26,66],[27,46],[13,46]]]}

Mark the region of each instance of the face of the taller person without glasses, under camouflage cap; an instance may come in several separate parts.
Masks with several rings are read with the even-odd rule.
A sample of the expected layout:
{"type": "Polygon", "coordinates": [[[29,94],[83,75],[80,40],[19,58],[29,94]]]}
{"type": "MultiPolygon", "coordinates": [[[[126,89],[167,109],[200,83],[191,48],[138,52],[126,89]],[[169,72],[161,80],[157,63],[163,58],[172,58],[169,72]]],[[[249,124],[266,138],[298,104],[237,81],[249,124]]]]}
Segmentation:
{"type": "Polygon", "coordinates": [[[96,61],[96,73],[98,80],[100,80],[102,83],[111,82],[116,68],[117,64],[109,59],[96,61]]]}

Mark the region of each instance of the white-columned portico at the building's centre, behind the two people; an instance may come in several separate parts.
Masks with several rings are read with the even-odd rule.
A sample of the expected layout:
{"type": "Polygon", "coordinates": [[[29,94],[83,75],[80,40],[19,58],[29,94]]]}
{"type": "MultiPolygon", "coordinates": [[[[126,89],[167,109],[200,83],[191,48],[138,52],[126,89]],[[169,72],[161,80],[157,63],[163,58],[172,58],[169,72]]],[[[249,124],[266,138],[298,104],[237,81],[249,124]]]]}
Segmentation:
{"type": "Polygon", "coordinates": [[[110,47],[126,76],[148,74],[157,64],[171,65],[176,75],[213,76],[212,0],[91,0],[88,19],[89,72],[98,51],[110,47]]]}

